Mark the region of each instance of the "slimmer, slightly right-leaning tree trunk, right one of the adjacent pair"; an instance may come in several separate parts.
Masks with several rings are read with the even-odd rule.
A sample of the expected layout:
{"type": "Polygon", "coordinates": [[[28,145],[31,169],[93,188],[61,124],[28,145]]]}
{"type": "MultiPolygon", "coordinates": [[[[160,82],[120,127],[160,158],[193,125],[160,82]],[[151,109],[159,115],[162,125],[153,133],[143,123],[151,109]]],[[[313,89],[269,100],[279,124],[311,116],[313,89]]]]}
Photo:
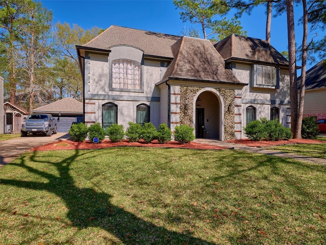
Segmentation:
{"type": "Polygon", "coordinates": [[[304,114],[304,104],[305,104],[305,91],[306,91],[306,68],[307,68],[307,38],[308,38],[308,10],[307,10],[307,1],[302,0],[303,7],[303,24],[304,24],[304,33],[302,38],[302,68],[301,68],[301,82],[300,82],[300,96],[299,96],[299,105],[298,105],[298,116],[296,121],[296,129],[298,131],[297,138],[302,137],[302,119],[304,114]]]}

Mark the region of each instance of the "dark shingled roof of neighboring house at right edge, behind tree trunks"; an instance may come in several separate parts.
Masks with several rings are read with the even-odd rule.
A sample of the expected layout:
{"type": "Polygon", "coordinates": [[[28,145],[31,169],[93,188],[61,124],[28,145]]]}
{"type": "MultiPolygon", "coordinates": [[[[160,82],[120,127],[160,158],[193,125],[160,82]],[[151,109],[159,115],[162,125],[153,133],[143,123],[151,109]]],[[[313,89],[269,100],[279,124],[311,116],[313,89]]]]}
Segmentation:
{"type": "MultiPolygon", "coordinates": [[[[300,86],[301,77],[298,77],[300,86]]],[[[326,60],[320,61],[306,73],[306,89],[326,88],[326,60]]]]}

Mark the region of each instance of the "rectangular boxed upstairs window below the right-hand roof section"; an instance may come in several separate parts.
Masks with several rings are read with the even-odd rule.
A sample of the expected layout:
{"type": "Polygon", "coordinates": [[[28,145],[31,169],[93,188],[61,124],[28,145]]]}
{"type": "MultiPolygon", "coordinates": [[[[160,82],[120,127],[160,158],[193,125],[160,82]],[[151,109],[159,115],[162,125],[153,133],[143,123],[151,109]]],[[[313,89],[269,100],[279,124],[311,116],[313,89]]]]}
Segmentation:
{"type": "Polygon", "coordinates": [[[276,88],[279,81],[277,67],[254,65],[254,87],[276,88]]]}

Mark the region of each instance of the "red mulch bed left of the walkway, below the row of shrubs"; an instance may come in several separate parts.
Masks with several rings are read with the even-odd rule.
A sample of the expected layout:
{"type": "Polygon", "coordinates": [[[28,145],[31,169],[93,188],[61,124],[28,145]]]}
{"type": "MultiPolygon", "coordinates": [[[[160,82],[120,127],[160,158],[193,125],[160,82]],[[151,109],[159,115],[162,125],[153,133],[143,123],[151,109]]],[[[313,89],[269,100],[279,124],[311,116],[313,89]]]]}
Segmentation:
{"type": "Polygon", "coordinates": [[[161,148],[182,148],[182,149],[198,149],[198,150],[222,150],[228,149],[222,146],[215,146],[209,144],[201,144],[197,142],[190,142],[180,144],[177,141],[169,141],[165,144],[158,143],[157,140],[146,144],[144,141],[129,142],[128,140],[112,143],[110,140],[103,140],[101,143],[93,143],[89,140],[83,142],[75,142],[71,140],[57,141],[53,143],[44,144],[31,149],[30,151],[49,151],[49,150],[92,150],[92,149],[103,149],[112,148],[116,146],[141,146],[141,147],[161,147],[161,148]]]}

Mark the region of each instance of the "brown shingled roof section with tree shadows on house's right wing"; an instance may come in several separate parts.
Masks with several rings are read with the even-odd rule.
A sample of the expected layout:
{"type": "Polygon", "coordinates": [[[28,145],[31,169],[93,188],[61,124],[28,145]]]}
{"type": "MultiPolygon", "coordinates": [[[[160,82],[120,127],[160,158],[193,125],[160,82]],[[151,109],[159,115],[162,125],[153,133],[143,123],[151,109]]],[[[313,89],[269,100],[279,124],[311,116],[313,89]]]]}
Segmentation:
{"type": "Polygon", "coordinates": [[[289,62],[267,41],[232,34],[215,44],[224,60],[246,60],[288,66],[289,62]]]}

